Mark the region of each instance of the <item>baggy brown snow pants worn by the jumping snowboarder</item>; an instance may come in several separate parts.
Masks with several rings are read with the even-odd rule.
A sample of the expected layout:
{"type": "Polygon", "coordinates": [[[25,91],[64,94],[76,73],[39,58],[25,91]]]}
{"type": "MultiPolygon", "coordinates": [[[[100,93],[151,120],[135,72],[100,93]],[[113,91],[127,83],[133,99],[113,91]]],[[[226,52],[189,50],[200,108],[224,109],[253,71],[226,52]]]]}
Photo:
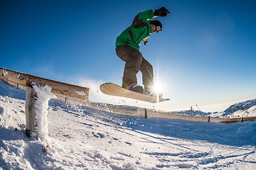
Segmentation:
{"type": "Polygon", "coordinates": [[[116,47],[117,56],[125,63],[122,87],[137,85],[137,73],[142,72],[142,83],[147,89],[153,85],[154,75],[152,65],[144,59],[142,53],[129,45],[116,47]]]}

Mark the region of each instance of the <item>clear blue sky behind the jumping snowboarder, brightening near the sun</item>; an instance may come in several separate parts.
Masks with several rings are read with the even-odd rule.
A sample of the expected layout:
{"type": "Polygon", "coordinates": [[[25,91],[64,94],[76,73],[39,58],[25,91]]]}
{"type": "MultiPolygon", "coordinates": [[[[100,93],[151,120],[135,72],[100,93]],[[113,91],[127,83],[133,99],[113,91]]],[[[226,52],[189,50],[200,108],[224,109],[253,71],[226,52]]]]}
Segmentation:
{"type": "MultiPolygon", "coordinates": [[[[79,84],[122,84],[115,39],[137,13],[170,15],[141,52],[164,86],[164,110],[223,111],[256,96],[255,1],[1,1],[0,67],[79,84]]],[[[138,74],[139,84],[142,76],[138,74]]],[[[95,99],[97,101],[97,98],[95,99]]],[[[106,101],[107,102],[107,101],[106,101]]]]}

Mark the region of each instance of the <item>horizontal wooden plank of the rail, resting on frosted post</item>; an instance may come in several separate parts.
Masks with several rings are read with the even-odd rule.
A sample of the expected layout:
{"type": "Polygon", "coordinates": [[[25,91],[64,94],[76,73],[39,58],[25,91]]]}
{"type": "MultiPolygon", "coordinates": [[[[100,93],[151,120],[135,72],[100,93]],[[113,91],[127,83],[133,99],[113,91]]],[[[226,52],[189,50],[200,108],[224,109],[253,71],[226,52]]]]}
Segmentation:
{"type": "Polygon", "coordinates": [[[0,79],[11,86],[16,86],[16,84],[20,84],[21,86],[31,86],[32,83],[37,83],[41,86],[48,84],[51,86],[53,94],[59,94],[71,98],[80,98],[86,101],[90,100],[91,93],[90,89],[87,87],[36,77],[30,74],[16,72],[11,69],[0,67],[0,79]]]}

